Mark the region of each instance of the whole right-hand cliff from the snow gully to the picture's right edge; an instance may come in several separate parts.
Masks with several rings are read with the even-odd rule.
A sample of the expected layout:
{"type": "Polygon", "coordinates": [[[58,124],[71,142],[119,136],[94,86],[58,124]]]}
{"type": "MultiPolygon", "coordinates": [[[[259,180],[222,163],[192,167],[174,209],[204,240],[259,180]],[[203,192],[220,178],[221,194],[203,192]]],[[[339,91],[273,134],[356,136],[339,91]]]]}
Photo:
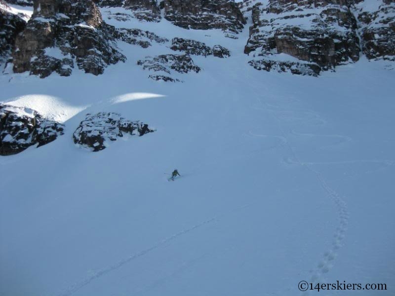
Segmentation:
{"type": "Polygon", "coordinates": [[[317,75],[369,58],[394,59],[394,1],[266,0],[241,5],[252,26],[244,53],[258,70],[317,75]],[[374,4],[373,4],[374,5],[374,4]]]}

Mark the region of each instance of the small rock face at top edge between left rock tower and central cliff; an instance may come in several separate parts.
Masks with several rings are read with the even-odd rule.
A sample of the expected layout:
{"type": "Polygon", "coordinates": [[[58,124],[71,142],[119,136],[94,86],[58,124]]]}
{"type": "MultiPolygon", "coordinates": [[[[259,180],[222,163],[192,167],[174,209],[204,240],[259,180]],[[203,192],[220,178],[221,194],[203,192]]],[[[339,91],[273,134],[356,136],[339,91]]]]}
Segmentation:
{"type": "Polygon", "coordinates": [[[156,0],[101,0],[102,7],[123,7],[131,10],[133,16],[139,20],[159,22],[160,9],[156,0]]]}

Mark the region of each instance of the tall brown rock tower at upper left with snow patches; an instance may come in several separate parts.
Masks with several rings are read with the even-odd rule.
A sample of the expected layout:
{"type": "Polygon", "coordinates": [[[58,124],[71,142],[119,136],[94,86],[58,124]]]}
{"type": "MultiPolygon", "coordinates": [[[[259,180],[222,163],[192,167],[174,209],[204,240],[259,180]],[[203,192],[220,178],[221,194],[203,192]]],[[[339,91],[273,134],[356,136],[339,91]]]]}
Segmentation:
{"type": "Polygon", "coordinates": [[[98,75],[107,65],[124,60],[91,0],[34,1],[33,16],[13,51],[14,72],[40,77],[52,72],[68,76],[75,63],[85,73],[98,75]]]}

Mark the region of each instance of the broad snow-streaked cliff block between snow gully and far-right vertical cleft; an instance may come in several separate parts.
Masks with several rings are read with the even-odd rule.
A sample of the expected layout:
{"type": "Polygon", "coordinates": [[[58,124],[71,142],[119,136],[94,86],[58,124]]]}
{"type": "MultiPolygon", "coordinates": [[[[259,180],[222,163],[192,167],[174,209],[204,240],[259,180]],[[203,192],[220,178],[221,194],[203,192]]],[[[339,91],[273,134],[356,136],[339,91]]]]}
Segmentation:
{"type": "MultiPolygon", "coordinates": [[[[309,68],[318,66],[320,70],[356,62],[360,50],[356,19],[345,4],[345,0],[269,0],[267,5],[258,2],[251,9],[253,25],[244,53],[262,48],[256,60],[293,68],[297,63],[279,61],[286,56],[277,54],[307,61],[309,68]]],[[[306,64],[302,64],[301,72],[305,72],[306,64]]]]}

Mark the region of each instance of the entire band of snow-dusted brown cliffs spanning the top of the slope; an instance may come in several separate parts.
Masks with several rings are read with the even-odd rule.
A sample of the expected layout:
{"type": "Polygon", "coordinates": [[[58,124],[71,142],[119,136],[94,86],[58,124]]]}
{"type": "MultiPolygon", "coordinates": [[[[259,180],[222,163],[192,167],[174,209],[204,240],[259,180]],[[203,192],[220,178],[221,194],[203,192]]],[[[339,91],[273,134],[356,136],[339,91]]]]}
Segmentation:
{"type": "MultiPolygon", "coordinates": [[[[238,38],[248,20],[249,37],[244,53],[250,56],[248,63],[257,70],[317,76],[322,71],[355,63],[361,54],[368,59],[395,61],[394,0],[8,2],[34,3],[34,13],[26,24],[26,18],[11,13],[0,0],[0,64],[11,61],[12,50],[15,73],[29,71],[40,77],[53,72],[67,76],[76,68],[102,74],[108,65],[125,60],[118,50],[119,40],[143,48],[155,41],[192,55],[230,55],[220,45],[209,48],[201,41],[177,36],[168,44],[168,39],[153,32],[128,28],[126,23],[133,18],[159,22],[163,17],[185,29],[220,29],[232,38],[238,38]],[[101,11],[108,20],[124,22],[125,28],[106,24],[101,11]]],[[[156,69],[160,68],[157,66],[156,69]]],[[[161,75],[156,75],[155,80],[161,75]]]]}

